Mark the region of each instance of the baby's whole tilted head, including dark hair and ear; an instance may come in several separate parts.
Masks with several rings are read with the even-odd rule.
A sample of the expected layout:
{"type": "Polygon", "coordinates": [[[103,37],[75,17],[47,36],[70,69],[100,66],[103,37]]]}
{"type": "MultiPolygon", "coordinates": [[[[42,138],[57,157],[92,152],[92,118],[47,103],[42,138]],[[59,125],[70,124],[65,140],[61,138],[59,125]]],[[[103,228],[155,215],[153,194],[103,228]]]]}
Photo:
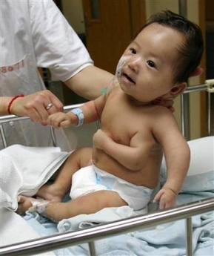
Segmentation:
{"type": "Polygon", "coordinates": [[[118,62],[122,91],[138,102],[174,99],[187,88],[203,53],[198,25],[163,11],[151,16],[118,62]]]}

